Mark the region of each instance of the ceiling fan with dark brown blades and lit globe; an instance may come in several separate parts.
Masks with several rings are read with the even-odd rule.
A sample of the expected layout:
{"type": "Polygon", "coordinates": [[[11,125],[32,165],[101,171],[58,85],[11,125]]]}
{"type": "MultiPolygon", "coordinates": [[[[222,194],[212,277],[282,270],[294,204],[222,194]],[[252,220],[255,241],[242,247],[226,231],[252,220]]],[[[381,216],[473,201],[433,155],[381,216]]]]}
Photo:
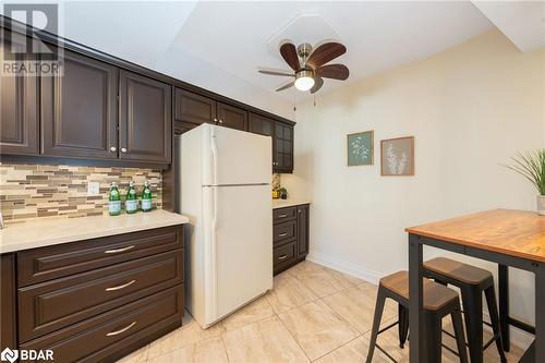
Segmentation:
{"type": "Polygon", "coordinates": [[[283,90],[295,86],[299,90],[311,90],[315,94],[324,85],[324,78],[344,81],[349,76],[349,70],[344,64],[326,64],[347,52],[347,47],[336,41],[328,41],[317,46],[315,49],[303,43],[295,48],[291,41],[280,46],[280,55],[293,72],[259,69],[259,73],[282,75],[294,80],[277,89],[283,90]]]}

